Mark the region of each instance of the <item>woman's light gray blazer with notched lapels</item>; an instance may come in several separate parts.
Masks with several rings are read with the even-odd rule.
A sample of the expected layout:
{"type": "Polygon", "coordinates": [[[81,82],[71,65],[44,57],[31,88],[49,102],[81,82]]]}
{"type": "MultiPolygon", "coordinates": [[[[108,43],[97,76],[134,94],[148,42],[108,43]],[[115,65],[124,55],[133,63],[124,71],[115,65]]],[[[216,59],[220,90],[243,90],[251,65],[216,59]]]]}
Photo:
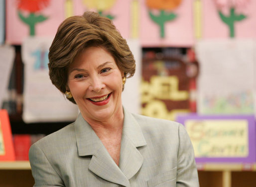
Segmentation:
{"type": "Polygon", "coordinates": [[[31,146],[34,187],[199,187],[183,125],[125,109],[124,115],[119,166],[79,114],[31,146]]]}

